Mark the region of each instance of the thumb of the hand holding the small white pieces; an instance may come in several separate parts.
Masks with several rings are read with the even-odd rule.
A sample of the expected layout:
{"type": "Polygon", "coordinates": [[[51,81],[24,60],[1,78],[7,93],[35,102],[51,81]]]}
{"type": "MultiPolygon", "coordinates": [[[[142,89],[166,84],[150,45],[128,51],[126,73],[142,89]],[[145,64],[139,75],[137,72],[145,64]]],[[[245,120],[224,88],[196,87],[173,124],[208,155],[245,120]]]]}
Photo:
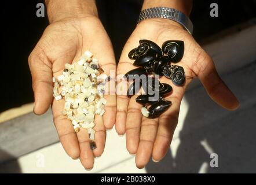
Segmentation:
{"type": "Polygon", "coordinates": [[[52,65],[47,61],[46,56],[39,57],[34,53],[35,51],[28,57],[35,97],[34,113],[43,114],[52,103],[52,65]]]}

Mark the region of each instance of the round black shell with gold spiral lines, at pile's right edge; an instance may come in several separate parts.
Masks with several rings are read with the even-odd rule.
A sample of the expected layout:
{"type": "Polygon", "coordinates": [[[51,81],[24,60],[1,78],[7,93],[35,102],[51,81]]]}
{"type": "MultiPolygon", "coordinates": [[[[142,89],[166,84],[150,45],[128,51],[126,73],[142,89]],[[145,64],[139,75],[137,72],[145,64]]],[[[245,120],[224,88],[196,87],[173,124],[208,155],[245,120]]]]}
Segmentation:
{"type": "Polygon", "coordinates": [[[164,66],[163,75],[171,79],[177,86],[182,86],[186,79],[184,69],[178,65],[164,66]]]}

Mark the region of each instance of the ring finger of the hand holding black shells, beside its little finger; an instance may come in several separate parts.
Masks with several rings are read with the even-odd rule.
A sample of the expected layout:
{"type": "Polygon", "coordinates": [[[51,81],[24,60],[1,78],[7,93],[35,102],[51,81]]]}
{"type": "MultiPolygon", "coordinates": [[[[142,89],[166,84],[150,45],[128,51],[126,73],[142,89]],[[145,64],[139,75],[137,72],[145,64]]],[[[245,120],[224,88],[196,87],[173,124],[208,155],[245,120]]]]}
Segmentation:
{"type": "Polygon", "coordinates": [[[140,140],[140,127],[141,127],[141,107],[140,103],[136,102],[138,96],[131,97],[126,118],[126,148],[130,154],[136,154],[138,143],[140,140]]]}

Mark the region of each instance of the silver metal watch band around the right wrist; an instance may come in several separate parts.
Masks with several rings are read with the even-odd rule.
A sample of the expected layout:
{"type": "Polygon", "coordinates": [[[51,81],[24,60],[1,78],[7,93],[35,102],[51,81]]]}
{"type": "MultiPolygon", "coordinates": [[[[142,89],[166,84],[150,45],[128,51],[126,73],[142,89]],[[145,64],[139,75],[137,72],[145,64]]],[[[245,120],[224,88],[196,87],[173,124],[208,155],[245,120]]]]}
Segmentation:
{"type": "Polygon", "coordinates": [[[147,18],[168,18],[181,24],[189,34],[193,33],[193,23],[184,13],[167,7],[155,7],[142,10],[138,17],[138,23],[147,18]]]}

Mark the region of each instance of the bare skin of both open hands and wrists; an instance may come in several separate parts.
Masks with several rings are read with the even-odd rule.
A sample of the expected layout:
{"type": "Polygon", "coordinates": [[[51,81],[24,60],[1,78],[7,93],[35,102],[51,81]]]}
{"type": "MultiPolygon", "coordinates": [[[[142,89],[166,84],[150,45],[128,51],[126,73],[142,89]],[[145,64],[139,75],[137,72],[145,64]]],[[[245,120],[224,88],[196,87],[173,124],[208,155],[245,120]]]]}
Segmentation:
{"type": "MultiPolygon", "coordinates": [[[[142,9],[167,6],[189,14],[191,4],[192,1],[189,0],[145,0],[142,9]]],[[[53,121],[64,150],[71,158],[80,158],[86,169],[92,169],[94,157],[103,153],[105,129],[111,129],[114,123],[119,135],[126,134],[127,150],[136,154],[138,168],[143,168],[151,156],[153,160],[160,161],[170,147],[185,88],[195,77],[199,77],[210,97],[219,105],[229,110],[235,110],[239,106],[236,97],[218,76],[211,58],[180,24],[164,19],[144,20],[127,40],[117,73],[125,74],[135,68],[127,54],[138,46],[140,39],[152,40],[159,46],[169,39],[184,40],[184,57],[177,65],[184,68],[186,83],[177,87],[169,79],[161,78],[160,82],[169,83],[173,87],[173,93],[165,97],[173,105],[157,119],[142,117],[141,105],[135,101],[137,96],[129,99],[125,95],[119,95],[118,98],[115,95],[105,95],[106,112],[103,118],[96,116],[95,119],[97,149],[91,150],[85,129],[76,134],[71,121],[61,115],[64,100],[53,99],[52,77],[61,74],[65,63],[78,61],[85,50],[92,51],[109,76],[109,71],[116,69],[111,41],[98,19],[95,1],[48,0],[46,6],[50,25],[28,58],[35,95],[34,112],[43,114],[52,106],[53,121]]],[[[126,94],[126,91],[119,93],[126,94]]]]}

